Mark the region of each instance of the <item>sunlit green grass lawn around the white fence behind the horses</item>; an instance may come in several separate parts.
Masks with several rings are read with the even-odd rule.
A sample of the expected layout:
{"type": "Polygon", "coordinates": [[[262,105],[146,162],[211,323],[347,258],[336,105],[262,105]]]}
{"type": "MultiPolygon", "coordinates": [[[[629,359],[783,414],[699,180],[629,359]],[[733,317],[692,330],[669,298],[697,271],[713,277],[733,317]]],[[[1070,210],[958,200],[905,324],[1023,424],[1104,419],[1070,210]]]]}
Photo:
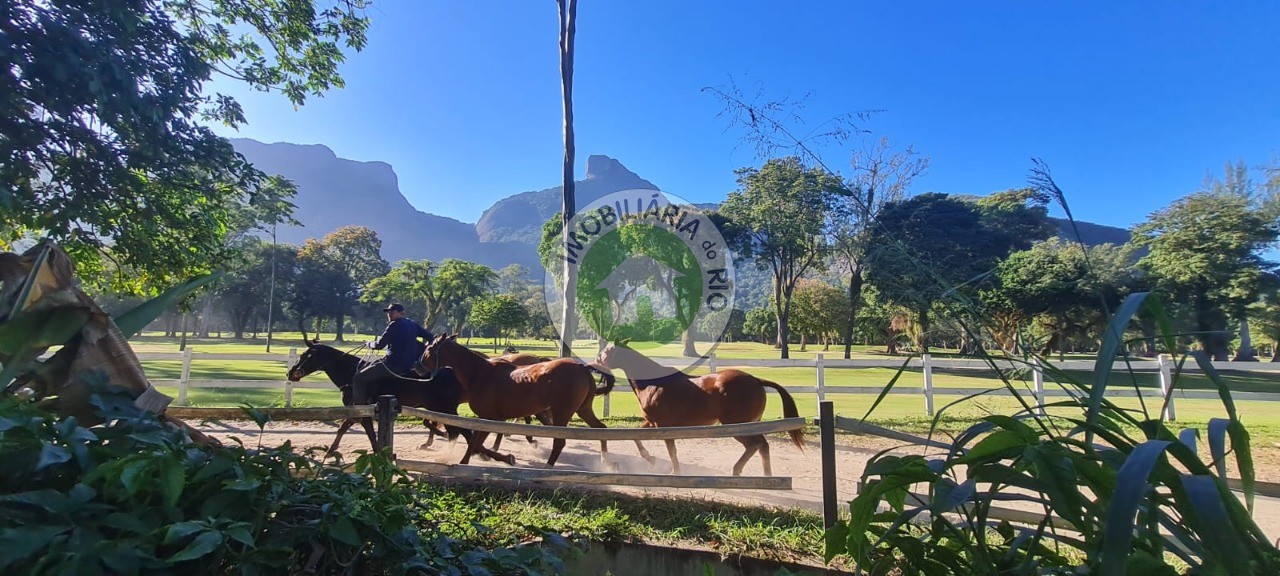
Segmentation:
{"type": "MultiPolygon", "coordinates": [[[[330,335],[332,337],[332,335],[330,335]]],[[[365,334],[348,334],[347,343],[334,344],[339,348],[353,348],[372,337],[365,334]]],[[[210,338],[210,339],[188,339],[188,346],[191,346],[196,352],[201,353],[264,353],[265,352],[265,338],[259,340],[233,340],[229,338],[210,338]]],[[[544,353],[554,355],[554,342],[548,340],[513,340],[513,346],[520,348],[522,352],[531,353],[544,353]]],[[[280,333],[276,334],[273,340],[273,353],[287,355],[291,347],[305,348],[302,343],[302,335],[298,333],[280,333]]],[[[471,342],[475,349],[489,352],[492,351],[492,340],[489,339],[474,339],[471,342]]],[[[159,333],[147,333],[134,338],[133,347],[138,352],[177,352],[178,343],[172,338],[164,338],[159,333]]],[[[590,351],[594,351],[595,343],[589,340],[580,340],[575,343],[575,349],[580,349],[580,353],[586,356],[590,351]]],[[[792,356],[797,358],[812,358],[819,347],[812,347],[808,352],[795,352],[792,356]]],[[[884,357],[883,355],[877,355],[876,349],[869,347],[855,347],[858,357],[884,357]]],[[[680,349],[676,346],[657,347],[653,352],[655,356],[678,356],[680,349]]],[[[719,362],[721,367],[731,367],[732,358],[776,358],[777,351],[765,344],[758,343],[724,343],[717,349],[717,355],[722,358],[719,362]]],[[[829,353],[831,356],[838,356],[838,351],[829,353]]],[[[182,362],[177,360],[165,361],[145,361],[143,366],[147,375],[152,379],[165,380],[165,379],[178,379],[182,371],[182,362]]],[[[748,369],[751,374],[760,378],[777,381],[783,385],[795,387],[812,387],[815,381],[814,369],[812,367],[750,367],[748,369]]],[[[191,378],[193,380],[273,380],[280,381],[284,379],[285,365],[284,362],[276,361],[219,361],[219,360],[195,360],[192,362],[191,378]]],[[[705,367],[695,370],[695,374],[705,372],[705,367]]],[[[831,387],[883,387],[897,374],[896,369],[887,367],[872,367],[872,369],[826,369],[826,385],[831,387]]],[[[1092,376],[1088,372],[1069,372],[1073,378],[1082,380],[1088,380],[1092,376]]],[[[1029,376],[1027,380],[1014,380],[1014,385],[1023,390],[1030,390],[1032,384],[1029,376]]],[[[1224,380],[1228,385],[1236,392],[1280,392],[1280,375],[1276,374],[1258,374],[1258,372],[1224,372],[1224,380]]],[[[311,375],[306,381],[328,383],[328,379],[321,374],[311,375]]],[[[1137,372],[1137,374],[1123,374],[1116,372],[1112,375],[1112,387],[1130,388],[1134,384],[1146,388],[1158,387],[1157,376],[1155,372],[1137,372]]],[[[919,370],[909,370],[899,378],[897,385],[919,388],[923,385],[923,376],[919,370]]],[[[978,370],[965,370],[965,371],[946,371],[934,370],[934,401],[936,407],[943,411],[947,403],[960,399],[955,394],[947,394],[948,388],[995,388],[1000,387],[1000,381],[996,379],[992,371],[978,371],[978,370]]],[[[1047,381],[1046,387],[1053,387],[1056,384],[1047,381]]],[[[1183,374],[1178,378],[1178,385],[1184,389],[1212,389],[1211,383],[1199,374],[1183,374]]],[[[170,396],[177,396],[175,387],[161,387],[161,390],[170,396]]],[[[814,394],[794,394],[796,404],[799,407],[801,416],[813,417],[817,416],[818,406],[817,397],[814,394]]],[[[828,399],[835,402],[836,413],[847,417],[861,417],[870,403],[874,401],[872,394],[828,394],[828,399]]],[[[1028,394],[1029,398],[1029,394],[1028,394]]],[[[283,406],[284,393],[280,388],[268,388],[268,389],[218,389],[218,388],[191,388],[188,390],[188,402],[192,406],[237,406],[239,403],[248,403],[252,406],[283,406]]],[[[312,390],[312,389],[296,389],[293,392],[294,406],[335,406],[339,402],[339,396],[337,389],[333,390],[312,390]]],[[[596,413],[603,415],[603,399],[596,399],[596,413]]],[[[1117,401],[1125,407],[1132,407],[1134,410],[1139,408],[1139,401],[1137,398],[1121,398],[1117,401]]],[[[1251,433],[1254,435],[1256,440],[1265,443],[1275,443],[1280,440],[1280,406],[1270,402],[1236,402],[1238,410],[1245,424],[1249,425],[1251,433]]],[[[964,428],[972,425],[977,419],[986,416],[988,413],[1011,413],[1018,410],[1019,404],[1015,399],[1009,397],[991,397],[991,398],[978,398],[964,402],[961,404],[946,408],[943,416],[940,421],[940,429],[943,431],[959,431],[964,428]]],[[[1148,399],[1148,412],[1156,413],[1158,406],[1155,406],[1148,399]]],[[[1207,425],[1208,420],[1212,417],[1225,416],[1222,406],[1216,401],[1190,401],[1190,399],[1178,399],[1176,401],[1178,420],[1179,425],[1203,428],[1207,425]]],[[[634,419],[639,416],[639,406],[632,394],[628,393],[614,393],[609,398],[609,413],[618,419],[634,419]]],[[[782,406],[777,398],[771,396],[768,407],[765,408],[767,419],[782,417],[782,406]]],[[[876,412],[872,415],[870,420],[883,424],[892,425],[895,428],[924,431],[928,430],[932,419],[924,415],[924,398],[918,394],[892,394],[877,407],[876,412]]]]}

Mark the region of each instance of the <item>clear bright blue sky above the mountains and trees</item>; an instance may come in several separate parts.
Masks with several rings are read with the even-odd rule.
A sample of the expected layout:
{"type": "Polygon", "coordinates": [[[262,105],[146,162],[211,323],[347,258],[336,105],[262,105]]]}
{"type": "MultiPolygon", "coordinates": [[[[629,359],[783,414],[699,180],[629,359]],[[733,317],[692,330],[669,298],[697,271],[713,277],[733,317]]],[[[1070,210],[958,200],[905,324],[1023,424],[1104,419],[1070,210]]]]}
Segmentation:
{"type": "MultiPolygon", "coordinates": [[[[556,4],[384,0],[344,90],[294,110],[230,82],[225,136],[324,143],[390,163],[421,210],[475,221],[493,201],[559,183],[556,4]]],[[[605,154],[691,201],[758,165],[701,91],[808,93],[819,123],[932,157],[916,192],[1025,183],[1041,157],[1076,218],[1119,227],[1194,191],[1228,160],[1280,157],[1280,3],[682,3],[584,0],[577,173],[605,154]]],[[[822,150],[847,170],[858,143],[822,150]]],[[[352,191],[357,193],[358,191],[352,191]]]]}

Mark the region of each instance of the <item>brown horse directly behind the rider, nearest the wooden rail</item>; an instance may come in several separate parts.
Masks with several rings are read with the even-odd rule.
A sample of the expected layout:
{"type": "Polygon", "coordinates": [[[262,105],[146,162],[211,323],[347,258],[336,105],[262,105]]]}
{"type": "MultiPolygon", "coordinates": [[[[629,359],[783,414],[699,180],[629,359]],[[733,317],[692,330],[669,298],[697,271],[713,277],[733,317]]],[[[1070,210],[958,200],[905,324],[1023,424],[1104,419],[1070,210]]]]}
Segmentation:
{"type": "MultiPolygon", "coordinates": [[[[576,413],[591,428],[604,428],[595,417],[591,402],[596,394],[608,394],[613,389],[613,375],[599,369],[558,358],[539,362],[532,366],[517,367],[509,362],[489,362],[483,355],[468,349],[457,342],[457,334],[439,335],[426,347],[422,365],[430,370],[449,366],[458,376],[471,402],[471,411],[486,420],[504,421],[547,412],[550,426],[567,426],[576,413]],[[594,374],[604,378],[604,385],[595,388],[594,374]]],[[[540,419],[539,419],[540,420],[540,419]]],[[[476,431],[471,436],[462,463],[471,460],[472,452],[484,443],[486,433],[476,431]]],[[[547,467],[556,465],[564,439],[552,443],[552,453],[547,467]]],[[[608,453],[608,443],[600,442],[600,460],[608,453]]]]}

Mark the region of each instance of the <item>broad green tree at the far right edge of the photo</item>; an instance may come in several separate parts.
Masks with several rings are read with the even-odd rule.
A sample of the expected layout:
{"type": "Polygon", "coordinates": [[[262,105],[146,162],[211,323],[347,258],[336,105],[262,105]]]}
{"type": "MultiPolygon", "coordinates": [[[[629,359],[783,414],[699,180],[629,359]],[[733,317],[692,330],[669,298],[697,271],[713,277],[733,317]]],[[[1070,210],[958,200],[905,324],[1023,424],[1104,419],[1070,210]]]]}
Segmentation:
{"type": "Polygon", "coordinates": [[[1138,266],[1189,308],[1196,338],[1217,361],[1228,360],[1228,320],[1245,317],[1275,265],[1262,251],[1280,233],[1261,198],[1231,178],[1179,198],[1134,229],[1134,243],[1149,250],[1138,266]]]}

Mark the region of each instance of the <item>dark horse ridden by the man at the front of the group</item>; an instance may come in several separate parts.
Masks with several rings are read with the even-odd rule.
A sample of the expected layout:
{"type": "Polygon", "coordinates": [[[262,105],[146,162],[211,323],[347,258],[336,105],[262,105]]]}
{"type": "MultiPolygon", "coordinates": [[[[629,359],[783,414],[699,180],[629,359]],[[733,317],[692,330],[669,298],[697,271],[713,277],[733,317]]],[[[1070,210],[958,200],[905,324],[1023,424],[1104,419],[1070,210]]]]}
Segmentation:
{"type": "MultiPolygon", "coordinates": [[[[289,369],[288,379],[298,381],[311,372],[324,371],[329,376],[329,380],[342,392],[342,404],[355,406],[351,379],[362,367],[364,360],[332,346],[311,340],[305,342],[307,343],[307,349],[298,357],[298,364],[289,369]]],[[[453,370],[448,369],[436,370],[430,379],[416,380],[392,376],[380,380],[378,384],[379,394],[394,396],[401,406],[457,415],[458,406],[462,403],[462,385],[458,383],[453,370]]],[[[330,454],[338,451],[338,443],[342,442],[343,434],[347,434],[347,430],[357,421],[364,426],[365,434],[369,435],[369,444],[374,449],[378,448],[378,436],[374,434],[374,419],[348,419],[338,428],[338,435],[333,439],[333,445],[329,447],[330,454]]],[[[428,424],[429,429],[434,433],[435,429],[433,425],[426,421],[424,424],[428,424]]],[[[462,435],[470,443],[471,430],[448,425],[444,428],[449,439],[462,435]]],[[[480,447],[479,452],[494,460],[515,463],[515,457],[503,458],[502,454],[484,447],[480,447]]]]}

